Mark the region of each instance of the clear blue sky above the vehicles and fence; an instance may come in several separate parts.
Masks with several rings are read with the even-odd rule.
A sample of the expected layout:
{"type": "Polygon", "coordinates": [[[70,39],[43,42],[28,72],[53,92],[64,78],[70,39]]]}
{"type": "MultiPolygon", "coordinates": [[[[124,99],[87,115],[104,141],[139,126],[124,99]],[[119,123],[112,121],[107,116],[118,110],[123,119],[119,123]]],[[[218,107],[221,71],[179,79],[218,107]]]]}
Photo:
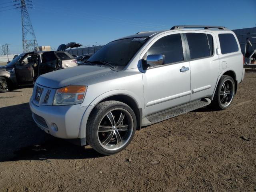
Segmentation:
{"type": "MultiPolygon", "coordinates": [[[[22,52],[20,10],[0,0],[0,44],[22,52]]],[[[79,42],[106,44],[139,31],[174,25],[220,25],[230,29],[256,25],[256,0],[33,0],[30,20],[39,46],[79,42]]]]}

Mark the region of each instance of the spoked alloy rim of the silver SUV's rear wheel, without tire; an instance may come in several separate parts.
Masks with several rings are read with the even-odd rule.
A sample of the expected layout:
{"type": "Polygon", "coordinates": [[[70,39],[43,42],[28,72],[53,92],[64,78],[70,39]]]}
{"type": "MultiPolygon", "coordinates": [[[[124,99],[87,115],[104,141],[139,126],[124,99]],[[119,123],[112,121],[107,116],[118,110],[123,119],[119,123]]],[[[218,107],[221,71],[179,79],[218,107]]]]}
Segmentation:
{"type": "Polygon", "coordinates": [[[220,89],[220,103],[223,107],[227,107],[232,102],[234,97],[234,83],[227,79],[223,82],[220,89]]]}

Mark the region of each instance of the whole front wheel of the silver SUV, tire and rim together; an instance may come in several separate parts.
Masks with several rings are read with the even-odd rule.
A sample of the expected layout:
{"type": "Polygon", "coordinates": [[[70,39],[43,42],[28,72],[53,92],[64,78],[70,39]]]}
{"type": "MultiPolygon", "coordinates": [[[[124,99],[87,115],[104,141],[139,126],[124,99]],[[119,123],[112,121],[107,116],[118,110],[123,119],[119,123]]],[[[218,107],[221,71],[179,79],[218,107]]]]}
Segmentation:
{"type": "Polygon", "coordinates": [[[119,101],[101,102],[90,114],[86,141],[100,154],[112,155],[130,144],[136,126],[136,116],[128,105],[119,101]]]}

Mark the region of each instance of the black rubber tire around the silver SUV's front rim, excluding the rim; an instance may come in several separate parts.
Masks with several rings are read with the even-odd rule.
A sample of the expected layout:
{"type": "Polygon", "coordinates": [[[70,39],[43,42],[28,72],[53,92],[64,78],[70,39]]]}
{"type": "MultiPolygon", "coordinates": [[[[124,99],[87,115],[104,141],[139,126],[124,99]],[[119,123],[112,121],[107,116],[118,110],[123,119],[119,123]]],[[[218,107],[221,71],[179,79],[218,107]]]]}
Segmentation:
{"type": "MultiPolygon", "coordinates": [[[[113,101],[109,101],[109,102],[113,102],[113,101]]],[[[94,111],[94,114],[95,113],[98,114],[98,115],[90,116],[90,118],[92,118],[92,119],[89,120],[90,122],[92,122],[91,120],[93,120],[94,123],[93,124],[89,123],[90,126],[86,128],[86,129],[89,129],[89,132],[90,132],[90,134],[87,135],[89,133],[87,131],[86,138],[88,138],[87,136],[89,136],[88,142],[92,146],[92,148],[94,148],[94,150],[96,150],[97,152],[99,152],[101,154],[104,154],[104,155],[116,154],[116,153],[122,151],[124,148],[126,148],[130,144],[130,142],[132,141],[132,138],[134,137],[134,134],[136,132],[136,127],[137,127],[136,116],[135,116],[133,110],[128,105],[126,105],[122,102],[115,102],[114,101],[113,104],[106,107],[104,110],[99,110],[98,108],[96,108],[95,111],[94,111]],[[131,135],[130,139],[128,140],[128,142],[124,146],[119,148],[118,150],[112,151],[112,150],[106,150],[99,143],[99,141],[98,141],[98,126],[100,124],[100,120],[102,120],[102,118],[106,115],[106,113],[108,111],[114,110],[116,108],[123,108],[123,109],[127,110],[130,113],[130,115],[132,116],[134,126],[133,126],[133,130],[132,130],[132,135],[131,135]],[[99,113],[100,113],[100,115],[99,115],[99,113]],[[95,117],[96,117],[96,119],[94,119],[95,117]]]]}

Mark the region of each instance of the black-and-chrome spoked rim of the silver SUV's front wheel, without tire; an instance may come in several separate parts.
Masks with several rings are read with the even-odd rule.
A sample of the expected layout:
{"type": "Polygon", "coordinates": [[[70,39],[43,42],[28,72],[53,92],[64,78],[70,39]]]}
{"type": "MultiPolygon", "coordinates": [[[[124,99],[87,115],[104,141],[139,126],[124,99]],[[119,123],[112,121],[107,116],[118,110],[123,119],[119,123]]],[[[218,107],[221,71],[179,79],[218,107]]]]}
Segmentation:
{"type": "Polygon", "coordinates": [[[127,110],[110,110],[98,126],[98,141],[106,150],[118,150],[130,140],[133,126],[132,116],[127,110]]]}

